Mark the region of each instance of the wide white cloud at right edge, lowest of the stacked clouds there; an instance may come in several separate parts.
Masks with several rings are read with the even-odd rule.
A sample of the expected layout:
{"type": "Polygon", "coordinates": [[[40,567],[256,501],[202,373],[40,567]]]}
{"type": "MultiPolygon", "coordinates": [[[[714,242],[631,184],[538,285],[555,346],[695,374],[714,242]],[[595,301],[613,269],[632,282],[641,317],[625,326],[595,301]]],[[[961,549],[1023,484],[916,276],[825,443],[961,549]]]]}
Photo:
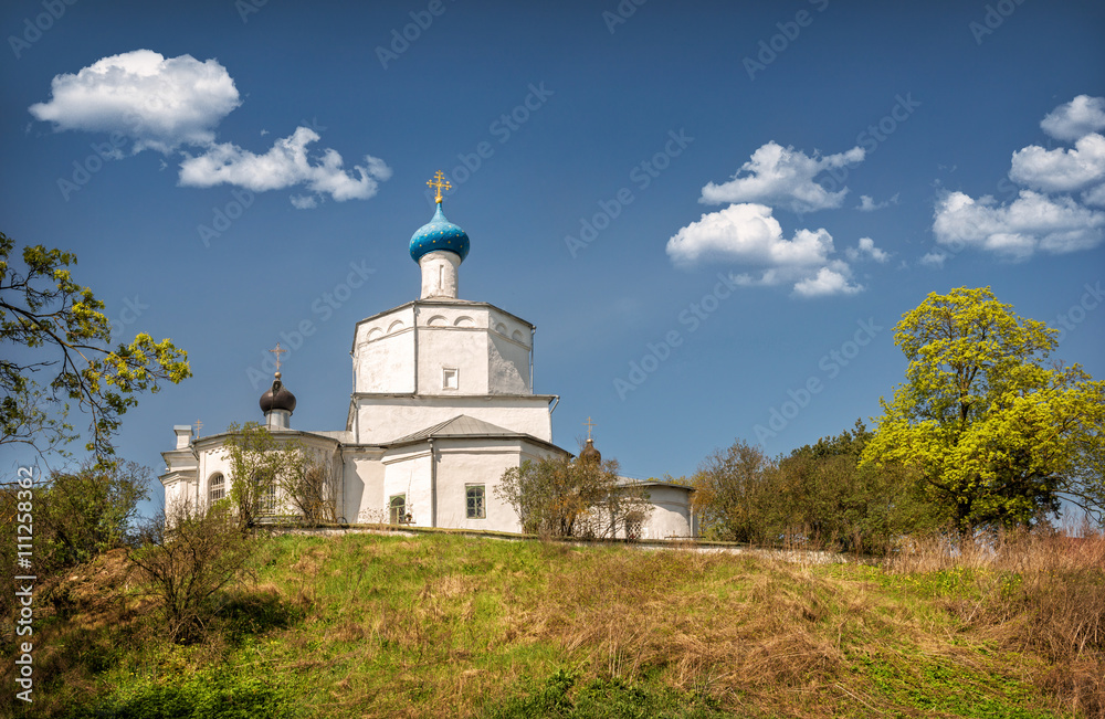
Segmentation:
{"type": "Polygon", "coordinates": [[[1011,203],[1000,205],[989,195],[976,201],[962,192],[949,192],[937,201],[933,231],[944,245],[1024,260],[1036,250],[1064,253],[1097,246],[1105,239],[1105,212],[1032,190],[1021,190],[1011,203]]]}

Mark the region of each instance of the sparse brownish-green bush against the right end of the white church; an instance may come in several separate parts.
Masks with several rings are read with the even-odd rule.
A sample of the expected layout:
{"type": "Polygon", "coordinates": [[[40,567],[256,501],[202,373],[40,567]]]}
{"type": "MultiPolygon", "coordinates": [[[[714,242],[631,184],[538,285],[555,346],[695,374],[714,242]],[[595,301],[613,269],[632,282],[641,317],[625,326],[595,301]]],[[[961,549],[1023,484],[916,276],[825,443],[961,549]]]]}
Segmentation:
{"type": "Polygon", "coordinates": [[[551,537],[614,537],[651,509],[642,487],[619,482],[617,459],[526,459],[503,473],[495,495],[518,512],[524,531],[551,537]]]}

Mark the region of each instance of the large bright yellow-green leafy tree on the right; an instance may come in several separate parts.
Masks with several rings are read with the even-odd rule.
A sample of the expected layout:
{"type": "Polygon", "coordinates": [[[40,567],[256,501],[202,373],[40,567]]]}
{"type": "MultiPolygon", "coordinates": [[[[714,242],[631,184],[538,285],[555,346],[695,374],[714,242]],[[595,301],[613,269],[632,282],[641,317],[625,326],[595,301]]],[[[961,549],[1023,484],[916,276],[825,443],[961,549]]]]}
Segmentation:
{"type": "Polygon", "coordinates": [[[864,463],[916,470],[960,531],[1029,525],[1061,498],[1101,520],[1105,383],[1045,366],[1056,334],[989,287],[928,295],[895,327],[906,381],[864,463]]]}

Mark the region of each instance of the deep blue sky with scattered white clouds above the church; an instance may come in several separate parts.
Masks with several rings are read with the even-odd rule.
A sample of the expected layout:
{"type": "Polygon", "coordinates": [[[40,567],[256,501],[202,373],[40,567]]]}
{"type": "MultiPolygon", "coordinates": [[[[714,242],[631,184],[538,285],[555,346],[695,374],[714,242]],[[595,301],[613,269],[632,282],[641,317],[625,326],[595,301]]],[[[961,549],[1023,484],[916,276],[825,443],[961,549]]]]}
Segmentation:
{"type": "Polygon", "coordinates": [[[1105,378],[1101,3],[0,13],[2,230],[189,352],[119,436],[155,473],[172,425],[261,419],[277,340],[293,426],[344,429],[354,324],[417,298],[439,169],[461,297],[537,325],[555,440],[591,416],[631,476],[877,414],[932,292],[1065,323],[1056,356],[1105,378]]]}

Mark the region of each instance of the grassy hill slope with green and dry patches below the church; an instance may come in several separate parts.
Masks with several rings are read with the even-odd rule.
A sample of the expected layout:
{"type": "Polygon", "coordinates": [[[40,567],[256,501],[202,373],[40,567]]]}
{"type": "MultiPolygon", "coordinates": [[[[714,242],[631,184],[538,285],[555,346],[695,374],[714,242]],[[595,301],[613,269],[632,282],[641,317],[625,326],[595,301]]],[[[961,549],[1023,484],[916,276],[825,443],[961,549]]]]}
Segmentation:
{"type": "MultiPolygon", "coordinates": [[[[1101,716],[1105,540],[885,565],[281,536],[177,646],[122,552],[43,595],[35,717],[1101,716]]],[[[1000,549],[1000,548],[999,548],[1000,549]]],[[[10,641],[9,638],[6,641],[10,641]]],[[[7,648],[6,648],[7,651],[7,648]]],[[[15,706],[20,705],[20,706],[15,706]]]]}

